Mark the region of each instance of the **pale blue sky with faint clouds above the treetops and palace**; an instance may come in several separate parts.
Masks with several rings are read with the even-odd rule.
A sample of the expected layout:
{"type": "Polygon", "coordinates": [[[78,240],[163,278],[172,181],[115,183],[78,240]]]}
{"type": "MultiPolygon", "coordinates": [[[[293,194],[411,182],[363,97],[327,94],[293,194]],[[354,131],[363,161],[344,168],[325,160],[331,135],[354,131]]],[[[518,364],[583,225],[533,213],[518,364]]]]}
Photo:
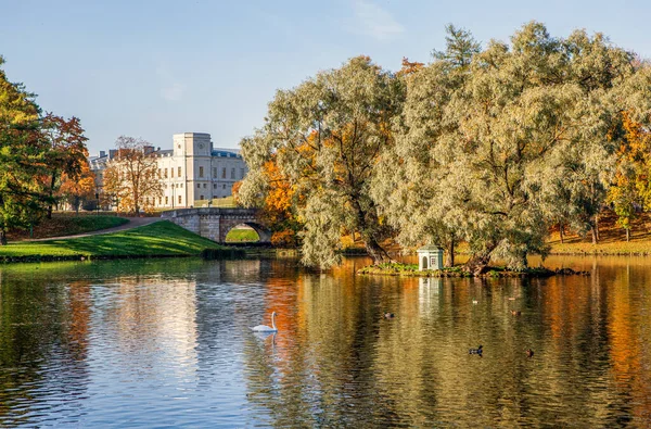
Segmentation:
{"type": "Polygon", "coordinates": [[[425,0],[0,0],[0,54],[46,111],[78,116],[89,150],[120,135],[171,147],[209,133],[234,148],[263,123],[278,88],[350,56],[397,71],[427,62],[447,23],[508,41],[536,20],[552,36],[601,31],[651,58],[651,2],[425,0]],[[618,3],[618,4],[617,4],[618,3]]]}

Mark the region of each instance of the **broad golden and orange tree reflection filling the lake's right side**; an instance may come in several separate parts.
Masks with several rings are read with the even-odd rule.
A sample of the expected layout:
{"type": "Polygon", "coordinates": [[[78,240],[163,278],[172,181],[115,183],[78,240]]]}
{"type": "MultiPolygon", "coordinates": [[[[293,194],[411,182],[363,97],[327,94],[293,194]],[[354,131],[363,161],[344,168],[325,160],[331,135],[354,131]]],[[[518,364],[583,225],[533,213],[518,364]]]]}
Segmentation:
{"type": "Polygon", "coordinates": [[[343,267],[302,275],[295,294],[269,281],[268,311],[292,307],[279,295],[296,311],[276,354],[246,340],[248,401],[273,426],[648,421],[651,338],[639,315],[649,299],[633,301],[629,279],[611,276],[432,286],[343,267]],[[383,320],[385,311],[396,318],[383,320]],[[469,356],[478,343],[484,357],[469,356]]]}

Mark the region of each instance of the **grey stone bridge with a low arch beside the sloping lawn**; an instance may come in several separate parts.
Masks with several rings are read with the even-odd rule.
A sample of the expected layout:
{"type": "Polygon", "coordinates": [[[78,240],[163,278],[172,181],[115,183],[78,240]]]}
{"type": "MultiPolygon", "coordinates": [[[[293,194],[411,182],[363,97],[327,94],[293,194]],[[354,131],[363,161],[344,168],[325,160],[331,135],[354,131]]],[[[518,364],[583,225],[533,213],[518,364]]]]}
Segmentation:
{"type": "Polygon", "coordinates": [[[202,237],[226,242],[226,235],[238,225],[246,225],[257,232],[261,243],[271,242],[271,232],[259,223],[255,209],[178,209],[163,212],[161,217],[171,220],[202,237]]]}

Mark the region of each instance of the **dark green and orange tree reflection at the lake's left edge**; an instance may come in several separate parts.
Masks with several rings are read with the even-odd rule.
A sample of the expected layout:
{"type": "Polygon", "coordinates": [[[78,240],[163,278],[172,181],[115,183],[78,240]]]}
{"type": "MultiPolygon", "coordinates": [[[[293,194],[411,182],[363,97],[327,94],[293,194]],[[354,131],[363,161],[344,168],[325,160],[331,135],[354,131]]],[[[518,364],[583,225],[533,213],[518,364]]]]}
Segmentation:
{"type": "Polygon", "coordinates": [[[0,272],[0,425],[28,425],[44,403],[74,421],[88,384],[88,283],[0,272]]]}

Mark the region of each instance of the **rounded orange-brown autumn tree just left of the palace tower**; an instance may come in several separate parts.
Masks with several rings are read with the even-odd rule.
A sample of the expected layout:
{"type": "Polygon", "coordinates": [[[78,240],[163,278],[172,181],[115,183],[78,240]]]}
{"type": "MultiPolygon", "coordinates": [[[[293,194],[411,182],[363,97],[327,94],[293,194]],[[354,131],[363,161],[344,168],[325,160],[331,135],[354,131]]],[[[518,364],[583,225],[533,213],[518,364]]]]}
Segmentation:
{"type": "Polygon", "coordinates": [[[120,136],[117,154],[104,172],[104,192],[115,199],[118,211],[140,213],[151,210],[163,194],[156,157],[143,139],[120,136]]]}

